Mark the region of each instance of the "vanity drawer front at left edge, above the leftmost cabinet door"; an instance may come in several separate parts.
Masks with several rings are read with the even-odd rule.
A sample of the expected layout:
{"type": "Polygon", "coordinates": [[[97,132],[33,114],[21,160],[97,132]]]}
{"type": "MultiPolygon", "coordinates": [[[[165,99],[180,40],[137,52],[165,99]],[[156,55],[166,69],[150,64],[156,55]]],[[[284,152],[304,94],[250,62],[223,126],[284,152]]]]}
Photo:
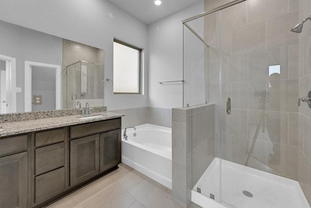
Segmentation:
{"type": "Polygon", "coordinates": [[[26,151],[27,140],[27,134],[0,139],[0,156],[16,151],[26,151]]]}

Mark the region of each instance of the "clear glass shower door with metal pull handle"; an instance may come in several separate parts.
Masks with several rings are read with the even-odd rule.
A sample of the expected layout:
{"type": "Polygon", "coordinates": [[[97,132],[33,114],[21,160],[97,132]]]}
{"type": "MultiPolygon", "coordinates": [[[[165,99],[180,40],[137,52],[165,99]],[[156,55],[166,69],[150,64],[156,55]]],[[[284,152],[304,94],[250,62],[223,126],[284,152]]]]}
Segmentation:
{"type": "Polygon", "coordinates": [[[220,201],[236,208],[295,207],[276,181],[297,180],[298,36],[283,25],[298,12],[274,12],[242,1],[219,15],[220,201]]]}

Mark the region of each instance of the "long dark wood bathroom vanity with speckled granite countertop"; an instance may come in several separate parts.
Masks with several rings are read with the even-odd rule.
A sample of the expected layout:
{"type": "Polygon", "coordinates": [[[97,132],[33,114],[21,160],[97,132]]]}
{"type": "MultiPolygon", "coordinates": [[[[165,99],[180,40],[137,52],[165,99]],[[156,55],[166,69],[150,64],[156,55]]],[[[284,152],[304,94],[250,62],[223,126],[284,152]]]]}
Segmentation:
{"type": "Polygon", "coordinates": [[[1,123],[0,208],[42,207],[121,163],[121,114],[1,123]]]}

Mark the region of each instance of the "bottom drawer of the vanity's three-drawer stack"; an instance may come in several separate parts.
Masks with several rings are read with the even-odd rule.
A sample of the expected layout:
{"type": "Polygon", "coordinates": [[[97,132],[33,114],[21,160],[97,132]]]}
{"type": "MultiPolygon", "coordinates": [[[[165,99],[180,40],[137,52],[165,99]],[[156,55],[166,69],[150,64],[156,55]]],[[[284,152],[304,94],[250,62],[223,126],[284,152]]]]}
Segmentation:
{"type": "Polygon", "coordinates": [[[39,204],[65,190],[65,167],[35,177],[35,204],[39,204]]]}

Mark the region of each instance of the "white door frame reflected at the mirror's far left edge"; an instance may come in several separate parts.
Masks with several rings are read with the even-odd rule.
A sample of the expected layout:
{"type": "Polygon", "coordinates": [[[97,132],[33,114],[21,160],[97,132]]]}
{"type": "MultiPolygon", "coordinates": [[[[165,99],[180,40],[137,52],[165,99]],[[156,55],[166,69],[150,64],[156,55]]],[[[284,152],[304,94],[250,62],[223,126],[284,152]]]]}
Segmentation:
{"type": "Polygon", "coordinates": [[[16,112],[16,58],[0,54],[0,60],[5,61],[6,97],[8,99],[8,112],[16,112]]]}

